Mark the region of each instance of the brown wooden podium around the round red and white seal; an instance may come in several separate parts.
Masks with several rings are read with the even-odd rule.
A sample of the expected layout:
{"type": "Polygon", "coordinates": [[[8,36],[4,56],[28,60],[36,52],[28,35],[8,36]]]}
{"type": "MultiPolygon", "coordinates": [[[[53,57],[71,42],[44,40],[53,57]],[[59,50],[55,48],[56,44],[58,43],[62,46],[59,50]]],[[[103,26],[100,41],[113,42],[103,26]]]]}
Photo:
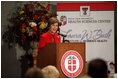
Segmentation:
{"type": "Polygon", "coordinates": [[[85,75],[85,43],[48,43],[37,56],[37,67],[43,68],[47,65],[56,66],[60,73],[59,77],[68,78],[62,71],[61,61],[63,55],[70,50],[77,51],[83,61],[81,73],[76,77],[85,75]]]}

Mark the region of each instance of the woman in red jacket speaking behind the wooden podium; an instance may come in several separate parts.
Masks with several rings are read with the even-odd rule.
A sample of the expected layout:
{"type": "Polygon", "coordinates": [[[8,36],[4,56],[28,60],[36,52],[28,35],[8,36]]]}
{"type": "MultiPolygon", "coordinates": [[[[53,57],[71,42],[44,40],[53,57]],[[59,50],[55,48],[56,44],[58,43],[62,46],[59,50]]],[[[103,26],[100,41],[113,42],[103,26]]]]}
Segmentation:
{"type": "Polygon", "coordinates": [[[60,43],[61,37],[56,33],[59,28],[59,21],[57,18],[52,17],[48,21],[48,31],[40,36],[38,53],[47,43],[60,43]]]}

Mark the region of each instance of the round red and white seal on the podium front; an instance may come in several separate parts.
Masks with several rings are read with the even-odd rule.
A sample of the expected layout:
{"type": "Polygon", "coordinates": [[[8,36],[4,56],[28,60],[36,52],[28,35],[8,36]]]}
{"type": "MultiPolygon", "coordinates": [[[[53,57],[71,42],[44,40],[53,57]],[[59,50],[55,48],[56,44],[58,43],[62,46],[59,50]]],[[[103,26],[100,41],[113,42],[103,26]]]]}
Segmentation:
{"type": "Polygon", "coordinates": [[[61,59],[61,68],[68,77],[77,77],[83,69],[81,55],[74,50],[67,51],[61,59]]]}

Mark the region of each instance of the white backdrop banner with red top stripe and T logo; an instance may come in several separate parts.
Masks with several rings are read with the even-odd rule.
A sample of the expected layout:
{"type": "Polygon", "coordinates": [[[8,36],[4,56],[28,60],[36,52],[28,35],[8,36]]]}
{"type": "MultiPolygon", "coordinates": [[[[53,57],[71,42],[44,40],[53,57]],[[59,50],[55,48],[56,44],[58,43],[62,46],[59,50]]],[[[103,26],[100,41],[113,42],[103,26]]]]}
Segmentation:
{"type": "Polygon", "coordinates": [[[57,3],[60,33],[86,42],[86,61],[114,61],[114,2],[57,3]]]}

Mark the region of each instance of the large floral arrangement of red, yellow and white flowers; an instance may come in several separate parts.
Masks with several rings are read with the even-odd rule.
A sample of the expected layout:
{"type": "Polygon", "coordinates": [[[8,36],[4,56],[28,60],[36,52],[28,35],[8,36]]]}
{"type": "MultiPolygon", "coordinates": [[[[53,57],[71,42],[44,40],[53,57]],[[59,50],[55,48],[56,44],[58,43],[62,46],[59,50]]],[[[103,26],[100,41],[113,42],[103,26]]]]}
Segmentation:
{"type": "Polygon", "coordinates": [[[31,2],[15,12],[10,18],[12,26],[3,34],[3,39],[9,45],[18,43],[21,46],[26,41],[39,41],[39,36],[46,32],[47,22],[50,17],[56,17],[50,11],[51,4],[45,6],[43,3],[31,2]]]}

